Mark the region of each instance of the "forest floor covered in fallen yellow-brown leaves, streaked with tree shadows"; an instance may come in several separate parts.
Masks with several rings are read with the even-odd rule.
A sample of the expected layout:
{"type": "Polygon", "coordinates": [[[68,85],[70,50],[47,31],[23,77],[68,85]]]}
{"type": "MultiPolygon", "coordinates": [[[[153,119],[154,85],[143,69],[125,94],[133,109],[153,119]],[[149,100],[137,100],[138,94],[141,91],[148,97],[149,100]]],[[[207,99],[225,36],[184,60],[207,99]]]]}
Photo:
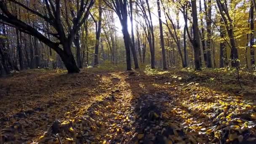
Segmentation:
{"type": "Polygon", "coordinates": [[[256,143],[256,72],[27,70],[0,79],[0,144],[256,143]]]}

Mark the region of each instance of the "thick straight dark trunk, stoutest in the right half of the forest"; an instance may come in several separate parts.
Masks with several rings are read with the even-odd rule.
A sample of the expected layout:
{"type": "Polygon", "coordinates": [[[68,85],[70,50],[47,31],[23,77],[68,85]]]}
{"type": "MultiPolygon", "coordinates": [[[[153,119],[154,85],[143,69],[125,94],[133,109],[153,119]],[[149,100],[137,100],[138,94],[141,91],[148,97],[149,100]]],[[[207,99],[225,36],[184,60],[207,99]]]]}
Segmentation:
{"type": "Polygon", "coordinates": [[[197,23],[197,5],[196,0],[191,0],[192,17],[193,17],[193,47],[195,56],[195,69],[201,70],[200,64],[200,44],[199,44],[199,29],[197,23]]]}

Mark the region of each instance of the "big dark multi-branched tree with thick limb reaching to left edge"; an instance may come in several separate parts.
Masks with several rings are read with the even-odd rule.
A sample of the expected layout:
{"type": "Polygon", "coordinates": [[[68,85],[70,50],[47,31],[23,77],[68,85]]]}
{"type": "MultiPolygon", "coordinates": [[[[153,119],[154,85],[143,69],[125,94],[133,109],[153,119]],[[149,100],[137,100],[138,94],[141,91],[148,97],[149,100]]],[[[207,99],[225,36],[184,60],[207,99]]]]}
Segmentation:
{"type": "Polygon", "coordinates": [[[71,5],[78,4],[78,9],[74,10],[75,19],[73,19],[73,21],[62,19],[65,17],[65,14],[61,12],[65,11],[65,13],[69,13],[69,15],[71,15],[71,5],[69,5],[69,8],[65,8],[64,6],[65,10],[63,10],[62,5],[64,5],[64,3],[61,0],[44,0],[40,1],[39,3],[40,6],[46,7],[47,13],[37,11],[35,8],[29,8],[28,6],[24,5],[24,3],[16,0],[1,0],[0,9],[2,12],[0,13],[0,19],[8,24],[11,24],[11,26],[16,27],[21,32],[36,37],[38,40],[42,41],[56,51],[64,62],[64,65],[69,73],[79,72],[80,70],[75,62],[71,47],[77,31],[88,18],[89,11],[94,3],[94,0],[71,1],[71,5]],[[45,27],[37,27],[36,29],[35,27],[30,26],[30,24],[26,21],[18,19],[15,13],[11,13],[8,10],[9,5],[16,5],[16,7],[29,11],[29,13],[36,16],[37,19],[42,20],[44,24],[47,22],[51,26],[51,29],[54,30],[49,32],[47,29],[45,29],[45,27]],[[66,29],[67,27],[70,27],[70,29],[66,29]],[[43,33],[48,33],[51,35],[51,38],[49,39],[43,35],[43,33]]]}

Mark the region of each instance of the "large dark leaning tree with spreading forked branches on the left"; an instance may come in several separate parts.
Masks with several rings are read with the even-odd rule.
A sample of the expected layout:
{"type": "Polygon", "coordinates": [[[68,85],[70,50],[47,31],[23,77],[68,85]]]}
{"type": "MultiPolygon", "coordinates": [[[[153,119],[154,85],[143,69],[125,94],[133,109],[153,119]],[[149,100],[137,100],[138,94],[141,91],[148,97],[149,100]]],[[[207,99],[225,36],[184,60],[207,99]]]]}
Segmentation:
{"type": "Polygon", "coordinates": [[[77,73],[80,69],[71,48],[75,35],[88,18],[94,2],[95,0],[0,0],[0,20],[37,37],[59,54],[69,73],[77,73]],[[17,9],[41,21],[40,26],[32,26],[22,19],[18,16],[17,9]]]}

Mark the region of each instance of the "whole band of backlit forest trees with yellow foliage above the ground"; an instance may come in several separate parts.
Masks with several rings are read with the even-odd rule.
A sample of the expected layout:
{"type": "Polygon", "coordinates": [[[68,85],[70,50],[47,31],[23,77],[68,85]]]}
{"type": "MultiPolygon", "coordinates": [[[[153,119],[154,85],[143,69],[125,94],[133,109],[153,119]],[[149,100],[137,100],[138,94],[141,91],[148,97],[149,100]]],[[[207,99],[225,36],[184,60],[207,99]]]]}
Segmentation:
{"type": "Polygon", "coordinates": [[[8,74],[51,65],[65,66],[73,73],[104,61],[126,61],[127,70],[132,63],[135,69],[140,63],[152,69],[192,66],[200,70],[229,63],[251,68],[255,3],[0,0],[0,71],[8,74]]]}

